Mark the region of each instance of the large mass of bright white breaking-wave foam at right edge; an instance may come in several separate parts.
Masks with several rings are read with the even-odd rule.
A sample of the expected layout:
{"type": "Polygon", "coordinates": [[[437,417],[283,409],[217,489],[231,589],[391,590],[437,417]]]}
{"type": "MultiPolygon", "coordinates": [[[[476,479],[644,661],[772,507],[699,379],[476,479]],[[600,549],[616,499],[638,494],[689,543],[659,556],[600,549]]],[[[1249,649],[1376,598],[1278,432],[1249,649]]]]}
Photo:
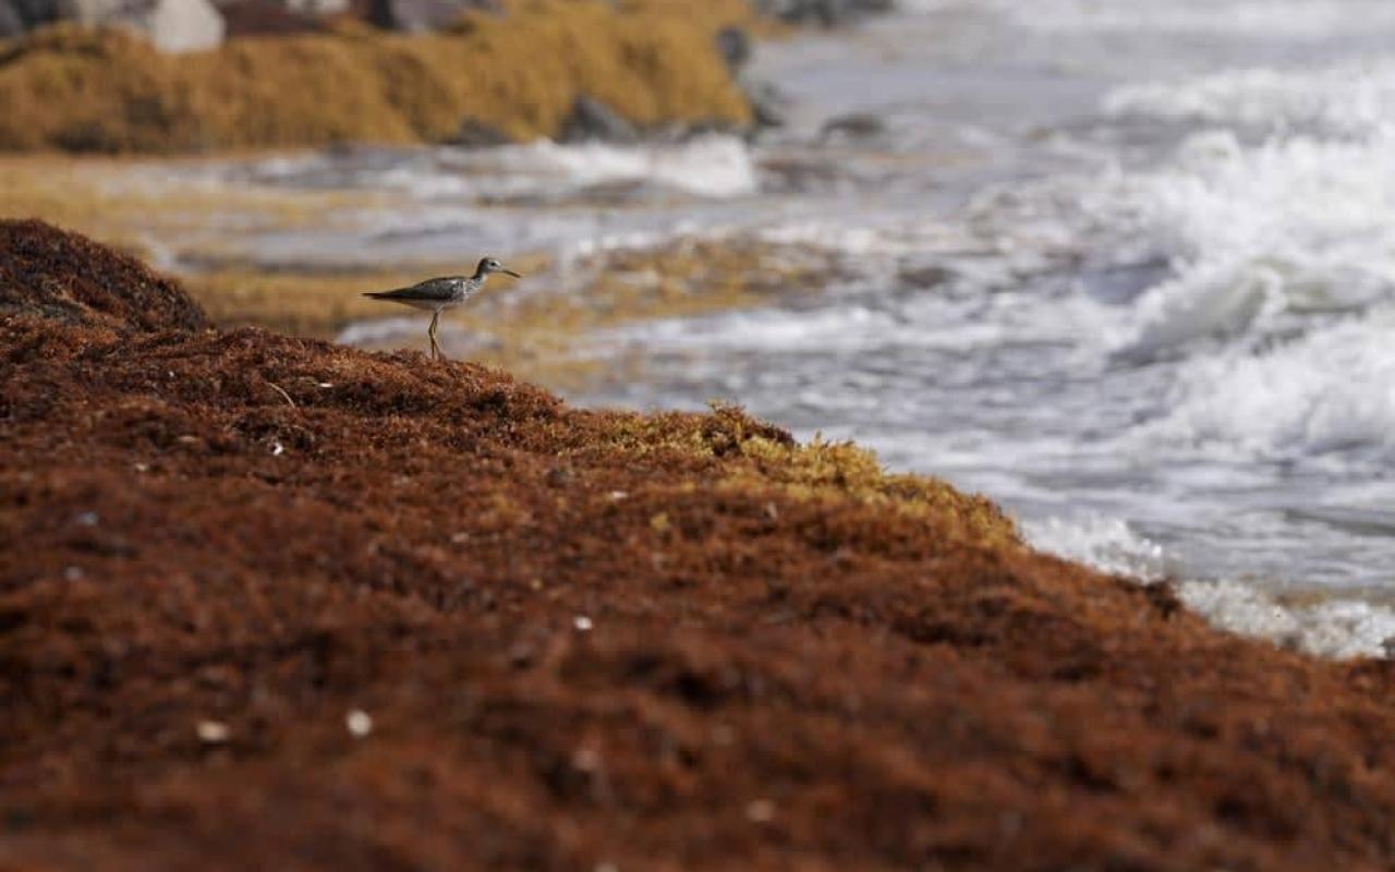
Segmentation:
{"type": "Polygon", "coordinates": [[[1392,162],[1385,134],[1261,148],[1202,134],[1162,169],[1083,195],[1098,222],[1074,222],[1087,246],[1094,233],[1169,264],[1101,333],[1126,359],[1186,350],[1168,413],[1136,435],[1282,458],[1395,452],[1392,162]]]}

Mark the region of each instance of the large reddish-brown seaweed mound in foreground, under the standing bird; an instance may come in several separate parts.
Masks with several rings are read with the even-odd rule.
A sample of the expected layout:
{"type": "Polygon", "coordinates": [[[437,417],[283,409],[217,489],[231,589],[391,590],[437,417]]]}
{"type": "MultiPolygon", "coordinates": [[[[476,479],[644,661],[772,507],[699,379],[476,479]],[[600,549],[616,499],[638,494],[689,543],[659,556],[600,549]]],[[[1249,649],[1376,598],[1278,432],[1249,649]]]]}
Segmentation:
{"type": "Polygon", "coordinates": [[[38,222],[0,299],[0,868],[1395,865],[1387,663],[38,222]]]}

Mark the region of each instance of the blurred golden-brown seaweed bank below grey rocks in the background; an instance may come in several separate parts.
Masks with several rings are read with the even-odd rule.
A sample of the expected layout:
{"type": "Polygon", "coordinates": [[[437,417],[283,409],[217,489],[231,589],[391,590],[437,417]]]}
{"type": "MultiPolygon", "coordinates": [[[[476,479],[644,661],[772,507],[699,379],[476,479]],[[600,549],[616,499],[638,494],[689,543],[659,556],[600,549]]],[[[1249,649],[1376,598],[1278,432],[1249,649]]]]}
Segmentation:
{"type": "Polygon", "coordinates": [[[742,4],[684,6],[529,0],[425,36],[343,24],[179,56],[121,31],[56,25],[0,40],[0,151],[439,142],[466,121],[531,138],[557,134],[579,95],[642,126],[746,123],[713,46],[713,28],[742,4]]]}

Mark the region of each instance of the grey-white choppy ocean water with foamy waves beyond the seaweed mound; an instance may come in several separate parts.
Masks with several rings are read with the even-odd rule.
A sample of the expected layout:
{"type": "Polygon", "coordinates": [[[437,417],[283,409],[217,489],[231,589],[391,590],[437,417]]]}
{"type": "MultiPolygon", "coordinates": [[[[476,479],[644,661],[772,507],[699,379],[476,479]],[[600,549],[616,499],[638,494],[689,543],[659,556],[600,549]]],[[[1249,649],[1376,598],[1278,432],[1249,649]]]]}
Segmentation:
{"type": "MultiPolygon", "coordinates": [[[[753,73],[791,99],[755,142],[181,172],[391,195],[322,227],[222,236],[266,264],[547,251],[558,268],[527,290],[572,293],[572,265],[611,248],[823,250],[838,269],[819,294],[579,339],[643,366],[572,399],[734,400],[985,493],[1039,548],[1173,579],[1229,629],[1387,653],[1395,4],[904,0],[762,46],[753,73]],[[848,114],[864,123],[829,126],[848,114]]],[[[343,339],[418,332],[384,320],[343,339]]]]}

